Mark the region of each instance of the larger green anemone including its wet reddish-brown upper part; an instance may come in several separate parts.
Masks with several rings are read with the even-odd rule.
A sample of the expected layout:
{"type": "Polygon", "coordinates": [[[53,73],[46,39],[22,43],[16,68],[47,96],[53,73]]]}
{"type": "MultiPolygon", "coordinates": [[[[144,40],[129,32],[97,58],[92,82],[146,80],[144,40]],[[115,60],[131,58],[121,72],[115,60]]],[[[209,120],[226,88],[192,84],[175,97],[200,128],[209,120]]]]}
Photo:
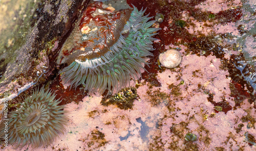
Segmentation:
{"type": "MultiPolygon", "coordinates": [[[[89,12],[92,12],[92,9],[89,12]]],[[[112,15],[106,14],[108,16],[96,16],[100,18],[97,20],[105,19],[105,21],[120,18],[119,20],[114,20],[111,24],[108,22],[108,25],[104,25],[104,27],[110,26],[110,28],[100,32],[100,35],[106,35],[106,41],[103,44],[101,41],[95,42],[96,37],[99,35],[92,35],[91,33],[93,31],[91,29],[98,30],[102,29],[103,26],[91,27],[90,23],[87,24],[87,20],[84,21],[86,25],[81,21],[80,30],[83,30],[83,34],[80,34],[82,35],[79,41],[81,43],[77,41],[73,43],[74,45],[79,43],[79,47],[74,47],[68,57],[67,54],[62,52],[62,58],[67,58],[66,61],[62,61],[62,58],[59,59],[60,63],[69,64],[68,67],[61,71],[63,82],[69,81],[71,87],[74,86],[75,88],[83,84],[85,90],[88,90],[89,93],[97,92],[101,95],[105,90],[108,90],[108,94],[112,94],[115,88],[119,91],[130,82],[131,77],[133,80],[140,78],[140,70],[144,69],[142,63],[147,64],[143,57],[153,55],[150,51],[154,50],[152,41],[156,39],[152,37],[160,29],[150,28],[155,23],[155,20],[148,21],[152,17],[143,16],[144,12],[145,10],[138,11],[134,7],[134,10],[125,9],[111,12],[112,15]],[[112,18],[106,19],[109,16],[112,18]],[[84,26],[81,27],[82,25],[84,26]],[[90,36],[93,38],[91,41],[88,40],[90,36]],[[82,41],[84,39],[87,39],[87,41],[82,41]],[[86,47],[80,47],[84,45],[86,47]]],[[[88,12],[84,14],[87,14],[85,18],[90,19],[91,14],[88,12]]],[[[91,20],[93,19],[94,17],[91,16],[91,20]]],[[[99,24],[103,23],[97,22],[97,25],[99,24]]],[[[74,39],[77,38],[77,36],[73,37],[74,39]]]]}

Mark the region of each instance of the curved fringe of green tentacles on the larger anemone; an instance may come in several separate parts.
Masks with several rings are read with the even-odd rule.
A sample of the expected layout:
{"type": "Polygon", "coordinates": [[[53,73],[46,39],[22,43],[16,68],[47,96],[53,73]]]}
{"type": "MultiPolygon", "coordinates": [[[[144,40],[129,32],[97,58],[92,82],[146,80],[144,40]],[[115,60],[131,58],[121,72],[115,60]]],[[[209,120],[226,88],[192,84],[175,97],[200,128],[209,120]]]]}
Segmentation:
{"type": "MultiPolygon", "coordinates": [[[[147,64],[143,57],[153,55],[150,51],[154,50],[152,41],[156,39],[152,37],[160,29],[150,28],[155,20],[148,21],[152,17],[143,16],[144,12],[145,10],[138,11],[134,7],[129,20],[125,21],[126,24],[124,23],[122,30],[119,31],[118,40],[108,47],[109,51],[105,54],[83,60],[74,59],[72,56],[74,61],[61,71],[61,79],[65,83],[69,81],[71,87],[73,85],[76,88],[83,84],[89,93],[97,91],[101,95],[105,90],[112,94],[115,88],[117,91],[124,88],[131,77],[133,80],[140,78],[140,70],[144,69],[142,63],[147,64]]],[[[115,28],[120,28],[119,24],[116,26],[115,28]]],[[[82,51],[77,50],[74,54],[77,53],[81,57],[91,53],[81,54],[82,51]]]]}

